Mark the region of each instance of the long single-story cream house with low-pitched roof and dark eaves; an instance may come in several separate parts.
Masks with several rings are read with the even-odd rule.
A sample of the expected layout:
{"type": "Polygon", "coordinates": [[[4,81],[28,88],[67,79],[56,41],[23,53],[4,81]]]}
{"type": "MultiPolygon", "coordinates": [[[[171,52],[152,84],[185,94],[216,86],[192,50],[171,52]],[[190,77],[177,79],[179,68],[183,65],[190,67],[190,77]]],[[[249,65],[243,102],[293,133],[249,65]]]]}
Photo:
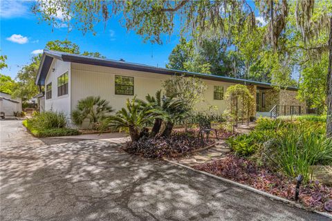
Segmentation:
{"type": "Polygon", "coordinates": [[[91,95],[107,99],[113,108],[119,110],[124,107],[127,98],[137,95],[144,99],[147,94],[154,95],[162,88],[163,81],[172,75],[199,77],[208,85],[204,93],[205,102],[197,106],[199,110],[216,106],[219,113],[223,113],[226,108],[223,99],[225,90],[234,84],[245,84],[255,97],[255,110],[259,113],[269,114],[273,108],[278,114],[306,112],[306,105],[296,99],[297,88],[294,87],[277,91],[268,83],[52,50],[44,50],[35,83],[45,87],[46,111],[62,111],[70,116],[77,102],[91,95]]]}

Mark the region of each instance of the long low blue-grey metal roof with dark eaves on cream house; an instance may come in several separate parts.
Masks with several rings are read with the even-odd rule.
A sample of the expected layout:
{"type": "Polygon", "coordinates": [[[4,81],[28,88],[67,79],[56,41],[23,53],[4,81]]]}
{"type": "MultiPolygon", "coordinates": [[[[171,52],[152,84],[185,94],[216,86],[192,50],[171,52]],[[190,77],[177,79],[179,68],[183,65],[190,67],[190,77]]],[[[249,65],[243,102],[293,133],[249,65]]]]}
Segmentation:
{"type": "MultiPolygon", "coordinates": [[[[225,77],[219,75],[208,75],[203,73],[194,73],[184,70],[173,70],[169,68],[158,68],[154,66],[148,66],[145,64],[136,64],[127,61],[116,61],[112,59],[102,59],[98,57],[89,57],[84,55],[73,55],[66,52],[59,52],[55,50],[44,50],[42,56],[42,62],[39,66],[38,75],[35,83],[37,85],[44,85],[46,75],[48,70],[50,69],[50,65],[53,62],[53,59],[59,59],[61,61],[68,61],[78,64],[90,64],[96,66],[105,66],[111,68],[120,68],[120,69],[127,69],[127,70],[138,70],[143,72],[149,73],[156,73],[162,75],[185,75],[185,76],[192,76],[192,77],[200,77],[203,79],[210,79],[213,81],[226,81],[231,83],[237,84],[246,84],[246,85],[257,85],[264,88],[273,88],[273,84],[264,83],[259,81],[252,81],[246,79],[238,79],[234,77],[225,77]]],[[[288,90],[297,90],[296,87],[288,87],[288,90]]]]}

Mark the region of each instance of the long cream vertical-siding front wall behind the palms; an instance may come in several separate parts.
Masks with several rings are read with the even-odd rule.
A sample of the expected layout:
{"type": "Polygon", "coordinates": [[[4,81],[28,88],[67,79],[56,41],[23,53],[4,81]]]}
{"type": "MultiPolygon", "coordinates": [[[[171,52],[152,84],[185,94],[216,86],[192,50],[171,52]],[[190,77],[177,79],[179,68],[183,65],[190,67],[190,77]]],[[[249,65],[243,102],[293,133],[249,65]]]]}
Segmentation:
{"type": "MultiPolygon", "coordinates": [[[[134,77],[134,95],[140,99],[145,99],[149,93],[154,95],[157,90],[162,88],[163,81],[169,78],[169,75],[160,75],[155,73],[146,73],[135,70],[124,70],[118,68],[107,68],[102,66],[91,66],[86,64],[71,64],[71,106],[75,109],[78,100],[88,96],[100,96],[107,99],[113,108],[118,111],[122,108],[127,98],[133,96],[115,94],[115,75],[134,77]]],[[[214,100],[214,85],[223,86],[224,93],[231,83],[221,81],[205,80],[208,90],[203,97],[205,102],[197,106],[199,111],[207,110],[208,106],[216,106],[219,113],[225,110],[225,100],[214,100]]]]}

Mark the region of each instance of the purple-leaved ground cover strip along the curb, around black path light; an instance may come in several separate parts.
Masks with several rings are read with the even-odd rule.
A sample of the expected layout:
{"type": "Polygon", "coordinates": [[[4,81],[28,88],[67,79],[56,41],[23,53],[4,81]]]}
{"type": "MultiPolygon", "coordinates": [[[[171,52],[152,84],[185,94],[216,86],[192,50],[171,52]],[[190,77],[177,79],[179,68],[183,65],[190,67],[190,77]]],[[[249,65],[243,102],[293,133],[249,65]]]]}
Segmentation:
{"type": "MultiPolygon", "coordinates": [[[[241,157],[228,155],[223,160],[194,166],[194,169],[246,184],[288,200],[294,200],[295,179],[290,180],[282,174],[273,173],[241,157]]],[[[309,182],[301,186],[299,202],[311,209],[332,213],[332,188],[319,182],[309,182]]]]}

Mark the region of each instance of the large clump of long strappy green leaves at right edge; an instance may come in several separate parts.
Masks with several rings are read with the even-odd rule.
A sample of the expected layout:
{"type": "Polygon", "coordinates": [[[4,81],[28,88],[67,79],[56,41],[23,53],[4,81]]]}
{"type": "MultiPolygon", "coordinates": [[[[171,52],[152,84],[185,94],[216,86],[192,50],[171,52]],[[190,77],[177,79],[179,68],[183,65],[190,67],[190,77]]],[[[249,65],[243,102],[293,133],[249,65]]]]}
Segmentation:
{"type": "Polygon", "coordinates": [[[310,166],[332,164],[332,140],[315,126],[299,124],[283,128],[270,148],[274,148],[275,153],[270,160],[278,169],[291,177],[302,174],[306,182],[310,178],[310,166]]]}

